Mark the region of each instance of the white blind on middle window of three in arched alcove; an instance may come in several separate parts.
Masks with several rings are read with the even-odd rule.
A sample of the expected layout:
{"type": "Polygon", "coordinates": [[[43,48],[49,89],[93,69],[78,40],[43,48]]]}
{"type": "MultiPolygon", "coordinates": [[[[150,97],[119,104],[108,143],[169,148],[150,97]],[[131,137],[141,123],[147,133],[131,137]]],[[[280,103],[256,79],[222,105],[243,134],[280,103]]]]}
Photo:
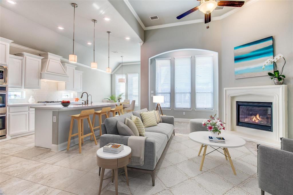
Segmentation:
{"type": "Polygon", "coordinates": [[[191,109],[191,56],[174,59],[175,108],[191,109]]]}

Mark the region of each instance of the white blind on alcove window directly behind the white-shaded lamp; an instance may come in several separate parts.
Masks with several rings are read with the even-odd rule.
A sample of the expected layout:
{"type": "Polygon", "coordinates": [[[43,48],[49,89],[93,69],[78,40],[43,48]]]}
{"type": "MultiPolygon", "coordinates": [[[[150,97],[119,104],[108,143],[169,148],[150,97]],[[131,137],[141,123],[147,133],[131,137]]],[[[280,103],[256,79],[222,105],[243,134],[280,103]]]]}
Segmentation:
{"type": "Polygon", "coordinates": [[[171,108],[171,58],[156,59],[156,95],[164,96],[162,108],[171,108]]]}

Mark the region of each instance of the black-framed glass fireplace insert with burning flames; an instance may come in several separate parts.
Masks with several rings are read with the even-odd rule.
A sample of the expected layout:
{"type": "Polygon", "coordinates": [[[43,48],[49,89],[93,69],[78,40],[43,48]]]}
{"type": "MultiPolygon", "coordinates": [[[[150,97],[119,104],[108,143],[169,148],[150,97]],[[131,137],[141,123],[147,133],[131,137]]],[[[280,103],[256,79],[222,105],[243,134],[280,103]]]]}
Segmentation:
{"type": "Polygon", "coordinates": [[[272,102],[236,101],[236,125],[264,131],[272,129],[272,102]]]}

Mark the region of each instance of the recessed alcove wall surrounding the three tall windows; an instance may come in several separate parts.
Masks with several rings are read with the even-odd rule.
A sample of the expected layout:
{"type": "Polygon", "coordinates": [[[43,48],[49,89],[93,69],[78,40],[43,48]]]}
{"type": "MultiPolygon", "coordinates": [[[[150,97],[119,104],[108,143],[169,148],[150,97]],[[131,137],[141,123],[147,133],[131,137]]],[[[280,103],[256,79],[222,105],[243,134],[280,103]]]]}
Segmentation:
{"type": "MultiPolygon", "coordinates": [[[[195,111],[195,55],[204,55],[204,54],[214,54],[214,52],[210,51],[199,51],[199,50],[183,50],[170,52],[166,54],[162,54],[156,56],[150,61],[150,90],[154,91],[154,95],[156,94],[156,59],[157,58],[171,58],[171,109],[163,109],[163,114],[174,116],[175,118],[207,118],[211,114],[217,113],[218,110],[218,55],[214,54],[214,110],[213,111],[195,111]],[[180,109],[174,110],[175,107],[175,67],[174,67],[174,57],[180,56],[191,56],[191,110],[188,109],[180,109]],[[183,115],[185,112],[185,115],[183,115]]],[[[153,103],[153,98],[149,98],[149,110],[154,110],[156,104],[153,103]]]]}

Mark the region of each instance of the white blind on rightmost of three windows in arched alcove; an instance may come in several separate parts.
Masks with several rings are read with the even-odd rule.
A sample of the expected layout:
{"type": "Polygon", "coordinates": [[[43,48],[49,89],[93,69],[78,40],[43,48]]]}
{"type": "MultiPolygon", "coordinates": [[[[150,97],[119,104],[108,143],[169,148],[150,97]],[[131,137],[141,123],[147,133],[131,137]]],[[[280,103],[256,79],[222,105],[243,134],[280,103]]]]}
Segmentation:
{"type": "Polygon", "coordinates": [[[213,56],[195,56],[195,109],[212,110],[213,56]]]}

